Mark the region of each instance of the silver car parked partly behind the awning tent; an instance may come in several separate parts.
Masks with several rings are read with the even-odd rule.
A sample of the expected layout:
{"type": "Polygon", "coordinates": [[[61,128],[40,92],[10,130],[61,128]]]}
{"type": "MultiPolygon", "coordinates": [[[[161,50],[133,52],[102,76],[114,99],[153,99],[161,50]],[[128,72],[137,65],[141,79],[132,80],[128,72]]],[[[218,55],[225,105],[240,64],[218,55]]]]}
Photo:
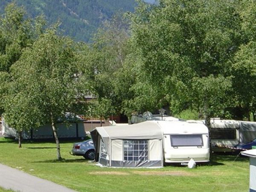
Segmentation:
{"type": "Polygon", "coordinates": [[[95,158],[93,140],[90,139],[81,143],[74,143],[70,154],[83,156],[85,159],[93,160],[95,158]]]}

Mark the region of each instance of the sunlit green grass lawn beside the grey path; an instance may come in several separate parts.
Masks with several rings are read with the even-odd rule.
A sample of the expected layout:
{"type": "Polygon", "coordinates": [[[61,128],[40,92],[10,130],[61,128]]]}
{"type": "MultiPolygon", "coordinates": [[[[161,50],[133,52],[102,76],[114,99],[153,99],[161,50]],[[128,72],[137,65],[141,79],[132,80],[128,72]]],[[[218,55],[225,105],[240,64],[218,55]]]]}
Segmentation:
{"type": "MultiPolygon", "coordinates": [[[[102,168],[69,154],[73,142],[61,143],[62,162],[56,161],[55,143],[24,143],[0,138],[0,163],[51,180],[77,191],[168,191],[247,192],[249,160],[246,157],[214,155],[208,166],[188,169],[102,168]]],[[[3,189],[2,189],[3,190],[3,189]]],[[[0,189],[1,191],[1,189],[0,189]]]]}

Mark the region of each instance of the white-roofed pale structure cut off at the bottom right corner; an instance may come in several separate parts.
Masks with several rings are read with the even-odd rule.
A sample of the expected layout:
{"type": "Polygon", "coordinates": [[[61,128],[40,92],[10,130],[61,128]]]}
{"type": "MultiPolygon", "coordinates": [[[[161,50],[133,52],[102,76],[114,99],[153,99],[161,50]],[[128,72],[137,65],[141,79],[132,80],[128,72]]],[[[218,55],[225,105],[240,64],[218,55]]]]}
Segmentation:
{"type": "Polygon", "coordinates": [[[242,155],[250,157],[250,192],[256,192],[256,149],[242,151],[242,155]]]}

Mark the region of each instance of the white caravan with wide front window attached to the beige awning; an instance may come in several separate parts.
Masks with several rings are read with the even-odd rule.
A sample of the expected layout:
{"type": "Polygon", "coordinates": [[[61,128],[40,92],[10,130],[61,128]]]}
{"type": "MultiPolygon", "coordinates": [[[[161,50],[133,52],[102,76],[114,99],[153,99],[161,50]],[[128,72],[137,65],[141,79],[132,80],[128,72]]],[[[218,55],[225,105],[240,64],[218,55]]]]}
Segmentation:
{"type": "Polygon", "coordinates": [[[203,123],[157,121],[163,132],[166,163],[209,162],[209,131],[203,123]]]}

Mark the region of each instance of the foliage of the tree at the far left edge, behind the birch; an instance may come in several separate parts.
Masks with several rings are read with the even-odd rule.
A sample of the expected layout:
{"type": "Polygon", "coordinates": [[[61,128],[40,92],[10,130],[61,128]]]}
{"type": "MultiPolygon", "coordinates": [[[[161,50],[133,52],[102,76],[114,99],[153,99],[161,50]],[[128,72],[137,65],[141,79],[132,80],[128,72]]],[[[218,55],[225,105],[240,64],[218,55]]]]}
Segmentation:
{"type": "MultiPolygon", "coordinates": [[[[6,6],[5,13],[0,17],[0,112],[2,113],[4,111],[4,104],[9,108],[9,106],[15,103],[17,105],[16,109],[12,111],[12,115],[10,114],[10,116],[8,115],[6,118],[11,124],[20,124],[17,126],[18,130],[21,130],[22,127],[31,127],[27,126],[26,122],[17,122],[16,124],[15,119],[19,118],[19,116],[23,114],[20,112],[24,112],[32,103],[21,102],[22,99],[26,98],[25,93],[15,95],[15,97],[9,98],[10,100],[7,99],[6,94],[8,91],[10,94],[15,94],[15,89],[20,88],[20,85],[12,87],[12,84],[9,84],[12,78],[9,72],[12,65],[20,59],[22,52],[26,48],[31,47],[35,38],[43,32],[43,26],[44,22],[42,19],[32,22],[31,19],[26,18],[24,10],[17,7],[15,3],[10,3],[6,6]],[[41,26],[40,31],[36,30],[38,25],[41,26]]],[[[26,87],[23,88],[26,89],[26,87]]],[[[32,111],[36,110],[33,109],[33,107],[30,109],[32,111]]],[[[29,113],[30,112],[28,112],[28,114],[29,113]]]]}

